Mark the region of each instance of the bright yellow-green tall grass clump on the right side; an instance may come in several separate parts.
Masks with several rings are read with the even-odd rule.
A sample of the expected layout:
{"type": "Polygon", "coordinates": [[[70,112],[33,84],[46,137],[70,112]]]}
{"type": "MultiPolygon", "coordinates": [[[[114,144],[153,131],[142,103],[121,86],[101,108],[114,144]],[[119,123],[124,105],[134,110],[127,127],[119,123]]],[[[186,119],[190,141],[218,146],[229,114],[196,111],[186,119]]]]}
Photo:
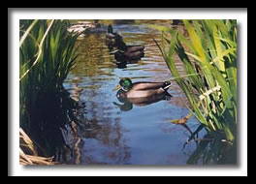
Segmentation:
{"type": "Polygon", "coordinates": [[[233,142],[237,131],[237,21],[183,23],[188,37],[172,28],[152,25],[163,33],[162,44],[156,44],[193,114],[212,136],[223,135],[222,141],[233,142]],[[185,77],[178,73],[175,54],[183,63],[185,77]]]}

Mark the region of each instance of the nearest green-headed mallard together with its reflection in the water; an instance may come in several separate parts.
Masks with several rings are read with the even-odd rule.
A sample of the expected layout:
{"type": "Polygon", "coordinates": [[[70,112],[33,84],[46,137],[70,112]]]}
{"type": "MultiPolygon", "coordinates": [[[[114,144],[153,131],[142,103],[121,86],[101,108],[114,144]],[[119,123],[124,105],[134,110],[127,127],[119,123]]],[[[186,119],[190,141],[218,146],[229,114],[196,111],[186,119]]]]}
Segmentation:
{"type": "Polygon", "coordinates": [[[133,105],[144,107],[162,100],[171,100],[167,90],[171,82],[134,82],[130,78],[122,78],[119,84],[113,89],[116,90],[118,101],[122,104],[113,103],[115,106],[120,107],[123,111],[128,111],[133,108],[133,105]]]}

